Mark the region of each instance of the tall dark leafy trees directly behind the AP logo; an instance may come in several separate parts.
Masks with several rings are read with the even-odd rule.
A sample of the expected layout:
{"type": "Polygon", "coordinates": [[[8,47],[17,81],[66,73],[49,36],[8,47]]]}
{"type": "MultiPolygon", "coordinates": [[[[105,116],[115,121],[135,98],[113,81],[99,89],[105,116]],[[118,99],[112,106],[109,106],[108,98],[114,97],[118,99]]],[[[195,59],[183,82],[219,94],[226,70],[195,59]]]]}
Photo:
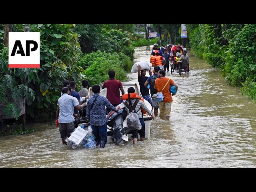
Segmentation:
{"type": "MultiPolygon", "coordinates": [[[[56,102],[52,101],[60,95],[62,82],[82,78],[84,70],[78,66],[81,50],[78,34],[71,30],[73,24],[33,24],[30,27],[31,31],[40,31],[40,68],[8,68],[2,50],[0,71],[4,73],[0,74],[0,82],[5,91],[0,94],[0,100],[8,104],[4,112],[17,119],[19,110],[15,101],[24,96],[26,118],[47,121],[55,114],[56,102]]],[[[24,26],[14,25],[14,29],[23,30],[24,26]]]]}

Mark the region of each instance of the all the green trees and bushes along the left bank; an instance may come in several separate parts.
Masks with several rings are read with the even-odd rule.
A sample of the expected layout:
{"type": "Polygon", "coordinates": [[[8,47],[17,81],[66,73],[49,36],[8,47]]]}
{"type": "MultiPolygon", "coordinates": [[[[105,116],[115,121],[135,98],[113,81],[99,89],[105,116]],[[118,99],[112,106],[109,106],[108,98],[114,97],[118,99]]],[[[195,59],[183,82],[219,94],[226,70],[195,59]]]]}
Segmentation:
{"type": "Polygon", "coordinates": [[[132,24],[14,24],[13,32],[40,32],[40,68],[8,68],[4,28],[0,24],[0,106],[6,118],[19,118],[18,102],[24,97],[27,121],[49,121],[64,80],[74,80],[78,87],[83,79],[100,84],[108,79],[108,70],[126,80],[132,67],[132,24]]]}

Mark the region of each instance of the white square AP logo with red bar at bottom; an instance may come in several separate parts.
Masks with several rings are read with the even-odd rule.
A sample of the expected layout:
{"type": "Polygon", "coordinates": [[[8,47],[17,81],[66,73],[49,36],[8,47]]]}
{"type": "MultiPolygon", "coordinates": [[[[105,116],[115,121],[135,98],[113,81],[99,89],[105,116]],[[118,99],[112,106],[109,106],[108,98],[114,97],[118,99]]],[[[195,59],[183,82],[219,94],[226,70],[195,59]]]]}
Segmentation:
{"type": "Polygon", "coordinates": [[[40,68],[40,32],[9,32],[9,68],[40,68]]]}

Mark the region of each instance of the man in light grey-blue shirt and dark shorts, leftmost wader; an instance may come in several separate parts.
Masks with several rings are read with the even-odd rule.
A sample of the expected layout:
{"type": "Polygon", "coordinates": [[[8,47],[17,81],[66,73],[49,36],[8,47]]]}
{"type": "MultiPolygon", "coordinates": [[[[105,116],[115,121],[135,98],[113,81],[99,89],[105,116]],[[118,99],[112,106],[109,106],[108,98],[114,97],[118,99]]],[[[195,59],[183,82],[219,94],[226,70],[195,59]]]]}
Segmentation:
{"type": "Polygon", "coordinates": [[[66,137],[74,130],[74,107],[79,110],[86,107],[86,103],[79,105],[78,100],[70,95],[67,87],[62,88],[62,96],[58,99],[56,120],[59,122],[60,138],[66,143],[66,137]]]}

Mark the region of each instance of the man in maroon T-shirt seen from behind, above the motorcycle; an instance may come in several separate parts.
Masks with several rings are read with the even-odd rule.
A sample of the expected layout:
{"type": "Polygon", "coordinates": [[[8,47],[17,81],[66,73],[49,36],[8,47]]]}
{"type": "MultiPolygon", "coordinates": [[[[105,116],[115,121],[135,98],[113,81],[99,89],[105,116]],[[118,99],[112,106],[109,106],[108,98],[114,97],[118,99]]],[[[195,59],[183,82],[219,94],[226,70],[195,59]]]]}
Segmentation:
{"type": "Polygon", "coordinates": [[[117,106],[118,104],[121,103],[119,89],[121,90],[123,95],[124,88],[122,86],[122,83],[115,79],[116,73],[114,70],[110,70],[108,72],[108,76],[109,76],[109,80],[105,81],[101,88],[102,89],[107,88],[107,99],[112,105],[117,106]]]}

